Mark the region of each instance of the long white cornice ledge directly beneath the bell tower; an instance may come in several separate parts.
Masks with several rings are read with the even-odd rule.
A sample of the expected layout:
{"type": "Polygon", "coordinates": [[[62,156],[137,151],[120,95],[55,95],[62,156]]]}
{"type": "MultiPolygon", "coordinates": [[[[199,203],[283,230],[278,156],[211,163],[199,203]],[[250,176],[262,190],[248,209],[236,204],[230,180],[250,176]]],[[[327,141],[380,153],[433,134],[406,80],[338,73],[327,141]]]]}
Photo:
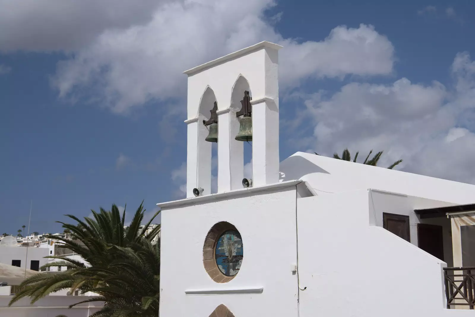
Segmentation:
{"type": "Polygon", "coordinates": [[[248,193],[256,193],[256,192],[261,192],[261,191],[273,190],[276,188],[285,188],[285,187],[295,186],[300,183],[304,183],[305,186],[307,186],[307,188],[311,188],[308,185],[308,183],[305,181],[288,180],[285,182],[280,182],[280,183],[275,183],[275,184],[269,184],[269,185],[263,185],[263,186],[257,186],[257,187],[240,188],[240,189],[235,189],[235,190],[217,193],[217,194],[210,194],[210,195],[198,196],[198,197],[189,197],[185,199],[159,203],[157,204],[157,206],[163,209],[163,208],[170,208],[170,207],[176,208],[182,205],[197,205],[197,204],[203,204],[209,201],[218,200],[218,199],[222,199],[226,197],[242,196],[242,195],[247,195],[248,193]]]}

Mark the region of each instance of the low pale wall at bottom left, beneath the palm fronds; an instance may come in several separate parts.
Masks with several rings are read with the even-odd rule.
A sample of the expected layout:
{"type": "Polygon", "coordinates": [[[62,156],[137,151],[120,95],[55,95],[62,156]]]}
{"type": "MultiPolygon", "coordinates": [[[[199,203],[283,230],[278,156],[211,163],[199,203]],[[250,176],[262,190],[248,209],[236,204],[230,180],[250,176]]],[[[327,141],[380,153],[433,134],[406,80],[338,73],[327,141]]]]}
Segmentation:
{"type": "Polygon", "coordinates": [[[92,302],[69,309],[69,305],[90,297],[47,296],[33,305],[30,305],[28,298],[23,298],[13,304],[12,307],[8,307],[11,298],[12,296],[0,296],[1,317],[56,317],[60,315],[65,317],[88,317],[103,305],[102,302],[92,302]]]}

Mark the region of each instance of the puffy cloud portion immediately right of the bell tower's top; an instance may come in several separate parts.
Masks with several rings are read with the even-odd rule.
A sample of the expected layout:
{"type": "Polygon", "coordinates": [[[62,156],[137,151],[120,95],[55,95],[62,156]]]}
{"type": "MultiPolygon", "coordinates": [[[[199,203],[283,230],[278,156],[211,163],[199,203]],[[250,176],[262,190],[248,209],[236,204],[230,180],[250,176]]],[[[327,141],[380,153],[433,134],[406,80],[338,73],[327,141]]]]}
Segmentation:
{"type": "Polygon", "coordinates": [[[334,28],[323,41],[298,44],[287,39],[279,56],[281,84],[294,85],[308,77],[388,75],[392,72],[394,47],[374,27],[334,28]]]}

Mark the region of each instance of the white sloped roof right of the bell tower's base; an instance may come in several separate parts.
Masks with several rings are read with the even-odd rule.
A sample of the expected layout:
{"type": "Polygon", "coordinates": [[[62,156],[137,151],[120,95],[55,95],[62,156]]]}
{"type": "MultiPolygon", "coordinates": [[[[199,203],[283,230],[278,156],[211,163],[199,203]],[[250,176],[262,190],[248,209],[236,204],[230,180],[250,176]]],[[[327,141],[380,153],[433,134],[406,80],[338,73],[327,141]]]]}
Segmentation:
{"type": "Polygon", "coordinates": [[[471,204],[475,185],[297,152],[280,163],[284,180],[307,181],[318,195],[378,189],[454,204],[471,204]]]}

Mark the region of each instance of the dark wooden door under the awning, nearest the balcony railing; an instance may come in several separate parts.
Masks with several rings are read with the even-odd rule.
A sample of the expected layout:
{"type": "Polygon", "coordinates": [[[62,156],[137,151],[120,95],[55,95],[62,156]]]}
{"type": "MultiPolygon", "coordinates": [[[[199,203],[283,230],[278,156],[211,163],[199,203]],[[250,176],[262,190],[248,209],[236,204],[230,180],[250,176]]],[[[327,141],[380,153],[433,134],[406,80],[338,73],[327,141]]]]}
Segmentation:
{"type": "Polygon", "coordinates": [[[442,226],[417,224],[418,247],[444,261],[444,239],[442,226]]]}

